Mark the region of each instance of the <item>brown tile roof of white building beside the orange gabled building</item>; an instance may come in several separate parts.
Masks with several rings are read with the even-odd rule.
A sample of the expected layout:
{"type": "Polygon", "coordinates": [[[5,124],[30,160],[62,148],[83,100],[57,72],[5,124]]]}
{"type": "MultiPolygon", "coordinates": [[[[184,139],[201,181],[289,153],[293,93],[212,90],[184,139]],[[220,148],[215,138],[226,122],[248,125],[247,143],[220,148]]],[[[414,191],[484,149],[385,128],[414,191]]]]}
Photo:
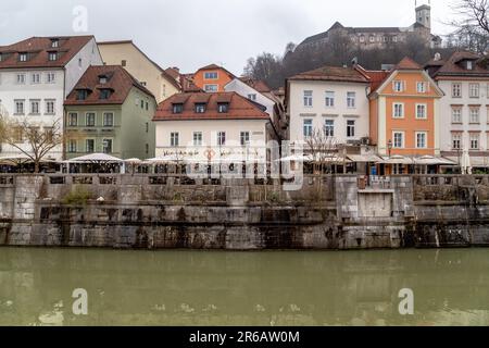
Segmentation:
{"type": "Polygon", "coordinates": [[[352,67],[323,66],[310,72],[301,73],[289,80],[334,80],[349,83],[368,83],[368,79],[352,67]]]}

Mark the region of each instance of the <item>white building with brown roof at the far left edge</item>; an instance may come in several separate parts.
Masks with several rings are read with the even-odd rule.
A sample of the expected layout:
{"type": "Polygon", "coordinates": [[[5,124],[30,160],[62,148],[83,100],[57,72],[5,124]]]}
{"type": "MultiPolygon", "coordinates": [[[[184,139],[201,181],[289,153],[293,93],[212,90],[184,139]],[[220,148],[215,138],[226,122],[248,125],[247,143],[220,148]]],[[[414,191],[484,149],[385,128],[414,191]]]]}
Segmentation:
{"type": "MultiPolygon", "coordinates": [[[[90,65],[102,65],[92,36],[33,37],[0,47],[0,103],[10,117],[27,120],[33,126],[62,126],[63,103],[90,65]]],[[[22,146],[22,135],[18,137],[22,146]]],[[[28,146],[25,145],[25,149],[28,146]]],[[[2,145],[1,157],[18,154],[2,145]]],[[[49,157],[60,160],[62,146],[49,157]]]]}

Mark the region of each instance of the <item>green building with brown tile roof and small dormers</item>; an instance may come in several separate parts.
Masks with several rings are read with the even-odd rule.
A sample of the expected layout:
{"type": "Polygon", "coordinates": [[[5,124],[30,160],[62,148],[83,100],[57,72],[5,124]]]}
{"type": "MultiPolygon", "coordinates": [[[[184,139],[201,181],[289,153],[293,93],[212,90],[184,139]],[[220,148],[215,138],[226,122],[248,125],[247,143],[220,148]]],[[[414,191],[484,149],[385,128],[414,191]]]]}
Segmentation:
{"type": "Polygon", "coordinates": [[[66,157],[154,157],[154,96],[120,65],[91,66],[65,101],[66,157]]]}

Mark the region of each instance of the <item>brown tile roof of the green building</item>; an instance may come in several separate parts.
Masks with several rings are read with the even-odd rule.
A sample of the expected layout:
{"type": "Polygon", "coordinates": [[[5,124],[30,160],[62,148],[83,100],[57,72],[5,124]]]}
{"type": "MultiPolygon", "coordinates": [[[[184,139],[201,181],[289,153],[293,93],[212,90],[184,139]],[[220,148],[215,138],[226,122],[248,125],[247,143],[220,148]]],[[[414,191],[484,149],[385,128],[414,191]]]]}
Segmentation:
{"type": "Polygon", "coordinates": [[[133,77],[121,65],[90,66],[76,84],[73,91],[67,96],[65,105],[97,105],[97,104],[122,104],[127,99],[133,87],[138,88],[148,96],[154,96],[139,82],[133,77]],[[100,84],[100,76],[106,76],[108,82],[100,84]],[[88,89],[90,92],[86,100],[77,100],[77,91],[88,89]],[[110,89],[112,94],[109,99],[100,99],[101,89],[110,89]]]}

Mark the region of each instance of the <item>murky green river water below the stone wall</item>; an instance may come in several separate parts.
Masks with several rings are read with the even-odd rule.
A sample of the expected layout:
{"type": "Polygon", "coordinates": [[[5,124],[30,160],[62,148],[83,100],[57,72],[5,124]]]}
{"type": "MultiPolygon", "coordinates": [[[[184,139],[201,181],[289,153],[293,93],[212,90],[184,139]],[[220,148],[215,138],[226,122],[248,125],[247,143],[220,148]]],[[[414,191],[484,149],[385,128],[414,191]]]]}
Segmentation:
{"type": "Polygon", "coordinates": [[[0,325],[489,325],[488,289],[489,249],[0,249],[0,325]]]}

